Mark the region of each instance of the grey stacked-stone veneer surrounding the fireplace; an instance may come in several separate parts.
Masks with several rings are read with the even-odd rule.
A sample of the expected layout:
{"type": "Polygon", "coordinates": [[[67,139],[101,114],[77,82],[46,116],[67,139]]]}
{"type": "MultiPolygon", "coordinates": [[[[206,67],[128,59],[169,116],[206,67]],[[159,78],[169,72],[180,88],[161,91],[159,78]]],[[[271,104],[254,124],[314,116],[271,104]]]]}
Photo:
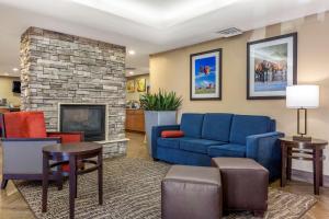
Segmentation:
{"type": "Polygon", "coordinates": [[[43,111],[58,128],[58,103],[107,104],[105,153],[125,153],[125,47],[30,27],[21,37],[22,111],[43,111]]]}

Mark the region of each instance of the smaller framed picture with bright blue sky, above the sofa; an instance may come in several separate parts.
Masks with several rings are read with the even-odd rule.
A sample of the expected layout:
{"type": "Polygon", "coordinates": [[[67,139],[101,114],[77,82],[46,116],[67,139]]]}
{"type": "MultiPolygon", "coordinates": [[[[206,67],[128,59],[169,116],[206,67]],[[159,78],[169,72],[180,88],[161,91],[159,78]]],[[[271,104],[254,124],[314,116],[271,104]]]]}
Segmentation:
{"type": "Polygon", "coordinates": [[[190,100],[222,100],[222,48],[190,55],[190,100]]]}

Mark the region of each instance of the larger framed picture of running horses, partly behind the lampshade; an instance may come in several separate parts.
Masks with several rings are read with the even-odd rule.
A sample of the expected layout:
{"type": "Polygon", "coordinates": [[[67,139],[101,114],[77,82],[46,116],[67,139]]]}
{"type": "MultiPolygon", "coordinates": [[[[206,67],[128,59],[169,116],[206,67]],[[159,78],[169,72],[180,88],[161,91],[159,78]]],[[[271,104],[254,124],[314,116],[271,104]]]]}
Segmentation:
{"type": "Polygon", "coordinates": [[[247,44],[247,100],[285,99],[297,82],[297,33],[247,44]]]}

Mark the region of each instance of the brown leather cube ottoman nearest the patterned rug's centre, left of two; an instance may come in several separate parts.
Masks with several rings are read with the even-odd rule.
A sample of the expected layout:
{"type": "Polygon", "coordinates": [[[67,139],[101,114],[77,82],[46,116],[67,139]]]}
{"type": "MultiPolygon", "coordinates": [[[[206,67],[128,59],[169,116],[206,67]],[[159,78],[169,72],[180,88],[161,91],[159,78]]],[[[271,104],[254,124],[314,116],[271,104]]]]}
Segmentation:
{"type": "Polygon", "coordinates": [[[222,218],[218,170],[173,165],[161,183],[161,209],[163,219],[222,218]]]}

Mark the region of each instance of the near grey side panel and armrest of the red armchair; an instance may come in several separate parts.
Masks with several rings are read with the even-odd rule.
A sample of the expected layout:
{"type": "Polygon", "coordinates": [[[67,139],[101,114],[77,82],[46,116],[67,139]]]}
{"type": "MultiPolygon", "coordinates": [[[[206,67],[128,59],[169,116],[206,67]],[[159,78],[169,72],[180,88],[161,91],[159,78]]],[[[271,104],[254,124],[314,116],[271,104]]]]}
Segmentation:
{"type": "Polygon", "coordinates": [[[60,138],[2,139],[3,174],[42,174],[43,148],[60,142],[60,138]]]}

